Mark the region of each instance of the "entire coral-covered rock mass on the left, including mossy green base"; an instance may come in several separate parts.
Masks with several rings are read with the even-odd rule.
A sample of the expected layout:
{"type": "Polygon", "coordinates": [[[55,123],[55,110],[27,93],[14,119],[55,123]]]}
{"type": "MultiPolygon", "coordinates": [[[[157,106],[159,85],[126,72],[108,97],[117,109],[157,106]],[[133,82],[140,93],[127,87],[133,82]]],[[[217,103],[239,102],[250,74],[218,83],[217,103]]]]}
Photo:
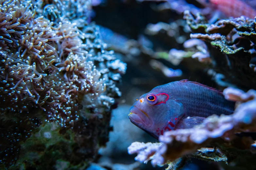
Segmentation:
{"type": "Polygon", "coordinates": [[[115,84],[126,64],[89,24],[89,1],[1,0],[0,6],[0,167],[35,168],[65,146],[71,148],[44,168],[57,159],[72,162],[64,157],[75,154],[67,166],[85,167],[108,140],[111,106],[121,95],[115,84]]]}

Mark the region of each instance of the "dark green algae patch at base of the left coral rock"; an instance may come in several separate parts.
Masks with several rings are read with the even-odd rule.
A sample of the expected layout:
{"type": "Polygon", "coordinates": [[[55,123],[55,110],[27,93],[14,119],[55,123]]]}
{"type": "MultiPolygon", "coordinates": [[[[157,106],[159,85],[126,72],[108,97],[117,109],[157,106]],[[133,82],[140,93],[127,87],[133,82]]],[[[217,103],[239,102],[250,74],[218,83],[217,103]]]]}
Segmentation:
{"type": "Polygon", "coordinates": [[[72,129],[64,134],[60,133],[61,129],[55,123],[42,125],[37,133],[21,143],[19,160],[9,169],[56,169],[63,163],[67,170],[85,168],[88,162],[76,153],[78,144],[72,129]]]}

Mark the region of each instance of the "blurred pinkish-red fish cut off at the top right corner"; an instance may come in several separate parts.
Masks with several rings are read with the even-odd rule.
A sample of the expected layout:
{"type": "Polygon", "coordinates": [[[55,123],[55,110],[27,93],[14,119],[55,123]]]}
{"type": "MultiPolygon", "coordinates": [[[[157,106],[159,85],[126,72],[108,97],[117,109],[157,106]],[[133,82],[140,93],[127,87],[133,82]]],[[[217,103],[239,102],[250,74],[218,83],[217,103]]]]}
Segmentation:
{"type": "MultiPolygon", "coordinates": [[[[206,7],[218,10],[227,17],[245,16],[254,19],[256,10],[242,0],[196,0],[206,7]]],[[[216,17],[216,16],[215,16],[216,17]]]]}

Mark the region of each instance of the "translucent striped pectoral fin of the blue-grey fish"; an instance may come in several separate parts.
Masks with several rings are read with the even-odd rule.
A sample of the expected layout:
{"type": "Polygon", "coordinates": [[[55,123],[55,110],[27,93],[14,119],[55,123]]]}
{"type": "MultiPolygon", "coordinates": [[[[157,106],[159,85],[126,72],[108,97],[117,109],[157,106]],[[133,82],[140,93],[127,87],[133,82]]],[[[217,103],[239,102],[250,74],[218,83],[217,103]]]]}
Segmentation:
{"type": "Polygon", "coordinates": [[[177,123],[175,129],[189,129],[203,122],[202,117],[187,117],[177,123]]]}

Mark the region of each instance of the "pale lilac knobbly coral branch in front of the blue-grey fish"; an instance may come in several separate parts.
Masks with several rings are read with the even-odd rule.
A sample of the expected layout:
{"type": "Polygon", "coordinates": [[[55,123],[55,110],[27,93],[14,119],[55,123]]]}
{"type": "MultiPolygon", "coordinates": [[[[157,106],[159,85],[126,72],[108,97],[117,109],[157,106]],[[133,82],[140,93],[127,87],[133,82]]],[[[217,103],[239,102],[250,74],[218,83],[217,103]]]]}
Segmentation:
{"type": "MultiPolygon", "coordinates": [[[[190,154],[196,152],[196,149],[205,146],[220,148],[226,154],[227,162],[237,157],[239,150],[240,154],[250,154],[249,149],[251,145],[254,145],[254,141],[250,136],[241,138],[237,133],[256,131],[256,91],[249,90],[245,93],[239,89],[227,88],[223,94],[226,99],[237,101],[238,106],[232,115],[220,117],[213,115],[193,129],[168,131],[159,137],[162,143],[132,143],[128,152],[137,152],[136,159],[141,162],[152,159],[153,165],[161,165],[166,160],[174,161],[179,157],[191,156],[190,154]]],[[[223,154],[220,154],[220,157],[223,157],[223,154]]],[[[218,161],[218,159],[212,161],[218,161]]]]}

